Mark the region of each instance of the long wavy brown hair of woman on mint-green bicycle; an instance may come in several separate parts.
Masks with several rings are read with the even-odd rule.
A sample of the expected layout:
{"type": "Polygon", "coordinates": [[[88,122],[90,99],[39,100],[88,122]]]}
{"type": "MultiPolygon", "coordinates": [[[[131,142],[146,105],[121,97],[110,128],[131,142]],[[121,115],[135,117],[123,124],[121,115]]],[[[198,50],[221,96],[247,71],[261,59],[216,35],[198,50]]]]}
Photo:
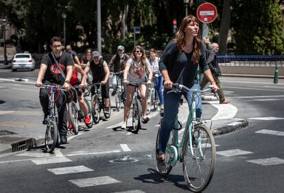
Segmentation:
{"type": "MultiPolygon", "coordinates": [[[[182,19],[182,23],[180,24],[180,28],[178,29],[178,33],[176,34],[176,45],[178,47],[178,50],[182,52],[182,47],[185,45],[185,28],[191,21],[195,21],[196,23],[199,23],[198,19],[193,15],[185,16],[184,19],[182,19]]],[[[198,36],[193,38],[193,54],[191,60],[194,64],[198,63],[198,60],[201,56],[201,38],[200,34],[198,33],[198,36]]]]}

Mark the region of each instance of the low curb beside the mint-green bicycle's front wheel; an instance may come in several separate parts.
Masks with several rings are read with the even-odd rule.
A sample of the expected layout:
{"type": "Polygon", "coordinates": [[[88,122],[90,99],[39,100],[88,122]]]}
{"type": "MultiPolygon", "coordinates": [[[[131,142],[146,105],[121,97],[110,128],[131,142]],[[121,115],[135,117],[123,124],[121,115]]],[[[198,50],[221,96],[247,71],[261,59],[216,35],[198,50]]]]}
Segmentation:
{"type": "Polygon", "coordinates": [[[233,123],[230,123],[230,124],[226,124],[225,126],[222,126],[222,127],[219,127],[219,128],[216,128],[213,130],[213,135],[222,135],[222,134],[225,134],[225,133],[230,133],[234,130],[237,130],[239,128],[244,128],[248,126],[248,121],[247,120],[239,120],[237,122],[233,122],[233,123]]]}

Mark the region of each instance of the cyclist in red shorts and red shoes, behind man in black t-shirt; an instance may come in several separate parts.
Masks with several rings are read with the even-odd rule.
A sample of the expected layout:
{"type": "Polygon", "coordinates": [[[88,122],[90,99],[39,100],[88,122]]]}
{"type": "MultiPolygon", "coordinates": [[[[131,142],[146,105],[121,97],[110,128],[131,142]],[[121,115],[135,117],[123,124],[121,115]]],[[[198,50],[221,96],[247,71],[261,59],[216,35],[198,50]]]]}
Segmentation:
{"type": "MultiPolygon", "coordinates": [[[[87,86],[86,72],[82,69],[81,66],[79,66],[77,64],[74,64],[73,76],[71,77],[70,84],[72,86],[79,85],[80,89],[76,88],[76,91],[78,93],[78,102],[79,102],[79,105],[80,105],[80,109],[84,113],[84,123],[86,125],[91,124],[91,118],[88,116],[88,106],[86,106],[86,103],[84,101],[84,89],[83,89],[83,87],[87,86]],[[81,75],[82,75],[81,82],[79,81],[79,78],[78,78],[78,72],[81,73],[81,75]]],[[[74,98],[74,100],[77,100],[77,99],[74,98]]],[[[69,123],[68,128],[72,129],[72,125],[70,123],[69,123]]]]}

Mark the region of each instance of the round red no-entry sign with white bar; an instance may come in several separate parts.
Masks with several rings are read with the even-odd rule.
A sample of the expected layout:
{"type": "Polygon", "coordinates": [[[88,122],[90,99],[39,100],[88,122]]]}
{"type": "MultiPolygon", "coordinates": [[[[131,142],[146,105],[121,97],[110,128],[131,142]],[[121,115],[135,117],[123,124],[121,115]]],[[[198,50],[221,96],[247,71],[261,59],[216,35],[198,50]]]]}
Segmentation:
{"type": "Polygon", "coordinates": [[[217,9],[212,3],[202,3],[198,7],[196,15],[202,23],[211,23],[217,17],[217,9]]]}

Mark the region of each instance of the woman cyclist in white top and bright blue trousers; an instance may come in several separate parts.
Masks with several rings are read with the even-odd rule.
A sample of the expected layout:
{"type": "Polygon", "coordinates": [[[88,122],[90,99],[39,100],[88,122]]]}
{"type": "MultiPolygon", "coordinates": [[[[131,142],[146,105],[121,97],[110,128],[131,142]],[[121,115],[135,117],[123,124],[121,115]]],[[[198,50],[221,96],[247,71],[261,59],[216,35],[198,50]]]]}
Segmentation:
{"type": "Polygon", "coordinates": [[[162,87],[163,87],[163,77],[161,74],[161,71],[158,69],[158,60],[159,58],[156,56],[156,49],[152,48],[150,49],[150,64],[153,69],[153,73],[156,76],[156,91],[158,92],[158,98],[160,100],[161,104],[161,112],[164,110],[164,98],[162,93],[162,87]]]}

